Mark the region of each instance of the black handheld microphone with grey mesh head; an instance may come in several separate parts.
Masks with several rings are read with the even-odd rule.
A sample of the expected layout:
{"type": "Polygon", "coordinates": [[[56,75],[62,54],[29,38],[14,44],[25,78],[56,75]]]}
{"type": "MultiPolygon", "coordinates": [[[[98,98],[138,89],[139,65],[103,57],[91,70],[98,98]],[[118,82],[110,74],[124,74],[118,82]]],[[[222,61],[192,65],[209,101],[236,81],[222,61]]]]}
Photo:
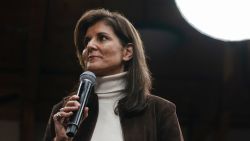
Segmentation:
{"type": "Polygon", "coordinates": [[[84,107],[87,105],[88,97],[91,93],[92,87],[95,85],[95,79],[95,74],[90,71],[83,72],[80,75],[80,85],[77,91],[77,95],[79,96],[79,103],[81,105],[80,108],[76,112],[74,112],[68,122],[66,130],[66,134],[68,137],[74,137],[78,130],[81,118],[83,116],[82,114],[84,107]]]}

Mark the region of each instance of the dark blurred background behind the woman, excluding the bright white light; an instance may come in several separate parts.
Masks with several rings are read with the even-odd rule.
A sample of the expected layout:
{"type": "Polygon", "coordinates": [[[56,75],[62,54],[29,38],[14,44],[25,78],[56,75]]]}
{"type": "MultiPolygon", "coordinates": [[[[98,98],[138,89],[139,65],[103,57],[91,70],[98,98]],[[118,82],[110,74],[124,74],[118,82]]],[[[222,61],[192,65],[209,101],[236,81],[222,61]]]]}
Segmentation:
{"type": "Polygon", "coordinates": [[[139,30],[153,94],[176,104],[186,141],[249,141],[249,40],[202,35],[174,0],[5,0],[0,7],[1,141],[42,140],[52,106],[81,74],[74,26],[101,7],[139,30]]]}

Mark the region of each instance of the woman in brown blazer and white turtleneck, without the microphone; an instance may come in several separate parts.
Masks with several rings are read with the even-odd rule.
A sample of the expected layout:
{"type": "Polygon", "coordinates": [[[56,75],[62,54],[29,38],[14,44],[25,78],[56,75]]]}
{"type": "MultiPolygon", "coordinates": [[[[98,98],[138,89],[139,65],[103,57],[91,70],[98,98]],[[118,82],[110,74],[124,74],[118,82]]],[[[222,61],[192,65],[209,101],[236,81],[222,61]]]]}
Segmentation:
{"type": "Polygon", "coordinates": [[[80,105],[73,93],[53,107],[44,140],[183,140],[175,105],[150,94],[143,44],[124,16],[105,9],[87,11],[76,24],[74,43],[83,70],[97,76],[96,85],[75,137],[65,133],[80,105]]]}

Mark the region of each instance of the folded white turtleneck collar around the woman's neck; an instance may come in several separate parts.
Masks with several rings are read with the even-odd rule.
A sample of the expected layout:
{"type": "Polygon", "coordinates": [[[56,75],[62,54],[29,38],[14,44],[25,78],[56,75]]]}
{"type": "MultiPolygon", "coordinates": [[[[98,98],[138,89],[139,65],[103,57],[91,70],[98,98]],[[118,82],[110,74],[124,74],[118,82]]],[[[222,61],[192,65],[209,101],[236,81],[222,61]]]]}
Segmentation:
{"type": "Polygon", "coordinates": [[[127,72],[97,77],[95,85],[96,94],[108,94],[125,90],[125,77],[127,72]]]}

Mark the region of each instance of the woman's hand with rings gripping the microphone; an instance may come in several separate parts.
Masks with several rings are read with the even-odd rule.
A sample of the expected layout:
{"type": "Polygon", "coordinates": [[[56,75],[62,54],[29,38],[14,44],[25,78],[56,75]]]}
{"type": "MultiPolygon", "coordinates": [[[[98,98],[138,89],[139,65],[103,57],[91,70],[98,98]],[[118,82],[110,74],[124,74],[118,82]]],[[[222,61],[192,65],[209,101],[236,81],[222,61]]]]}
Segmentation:
{"type": "MultiPolygon", "coordinates": [[[[74,111],[77,111],[80,108],[80,103],[78,102],[79,97],[73,95],[69,98],[69,101],[65,104],[64,107],[60,109],[53,116],[55,124],[55,133],[56,136],[54,141],[70,141],[71,139],[66,135],[67,122],[69,118],[73,115],[74,111]]],[[[84,108],[83,119],[88,116],[88,107],[84,108]]]]}

